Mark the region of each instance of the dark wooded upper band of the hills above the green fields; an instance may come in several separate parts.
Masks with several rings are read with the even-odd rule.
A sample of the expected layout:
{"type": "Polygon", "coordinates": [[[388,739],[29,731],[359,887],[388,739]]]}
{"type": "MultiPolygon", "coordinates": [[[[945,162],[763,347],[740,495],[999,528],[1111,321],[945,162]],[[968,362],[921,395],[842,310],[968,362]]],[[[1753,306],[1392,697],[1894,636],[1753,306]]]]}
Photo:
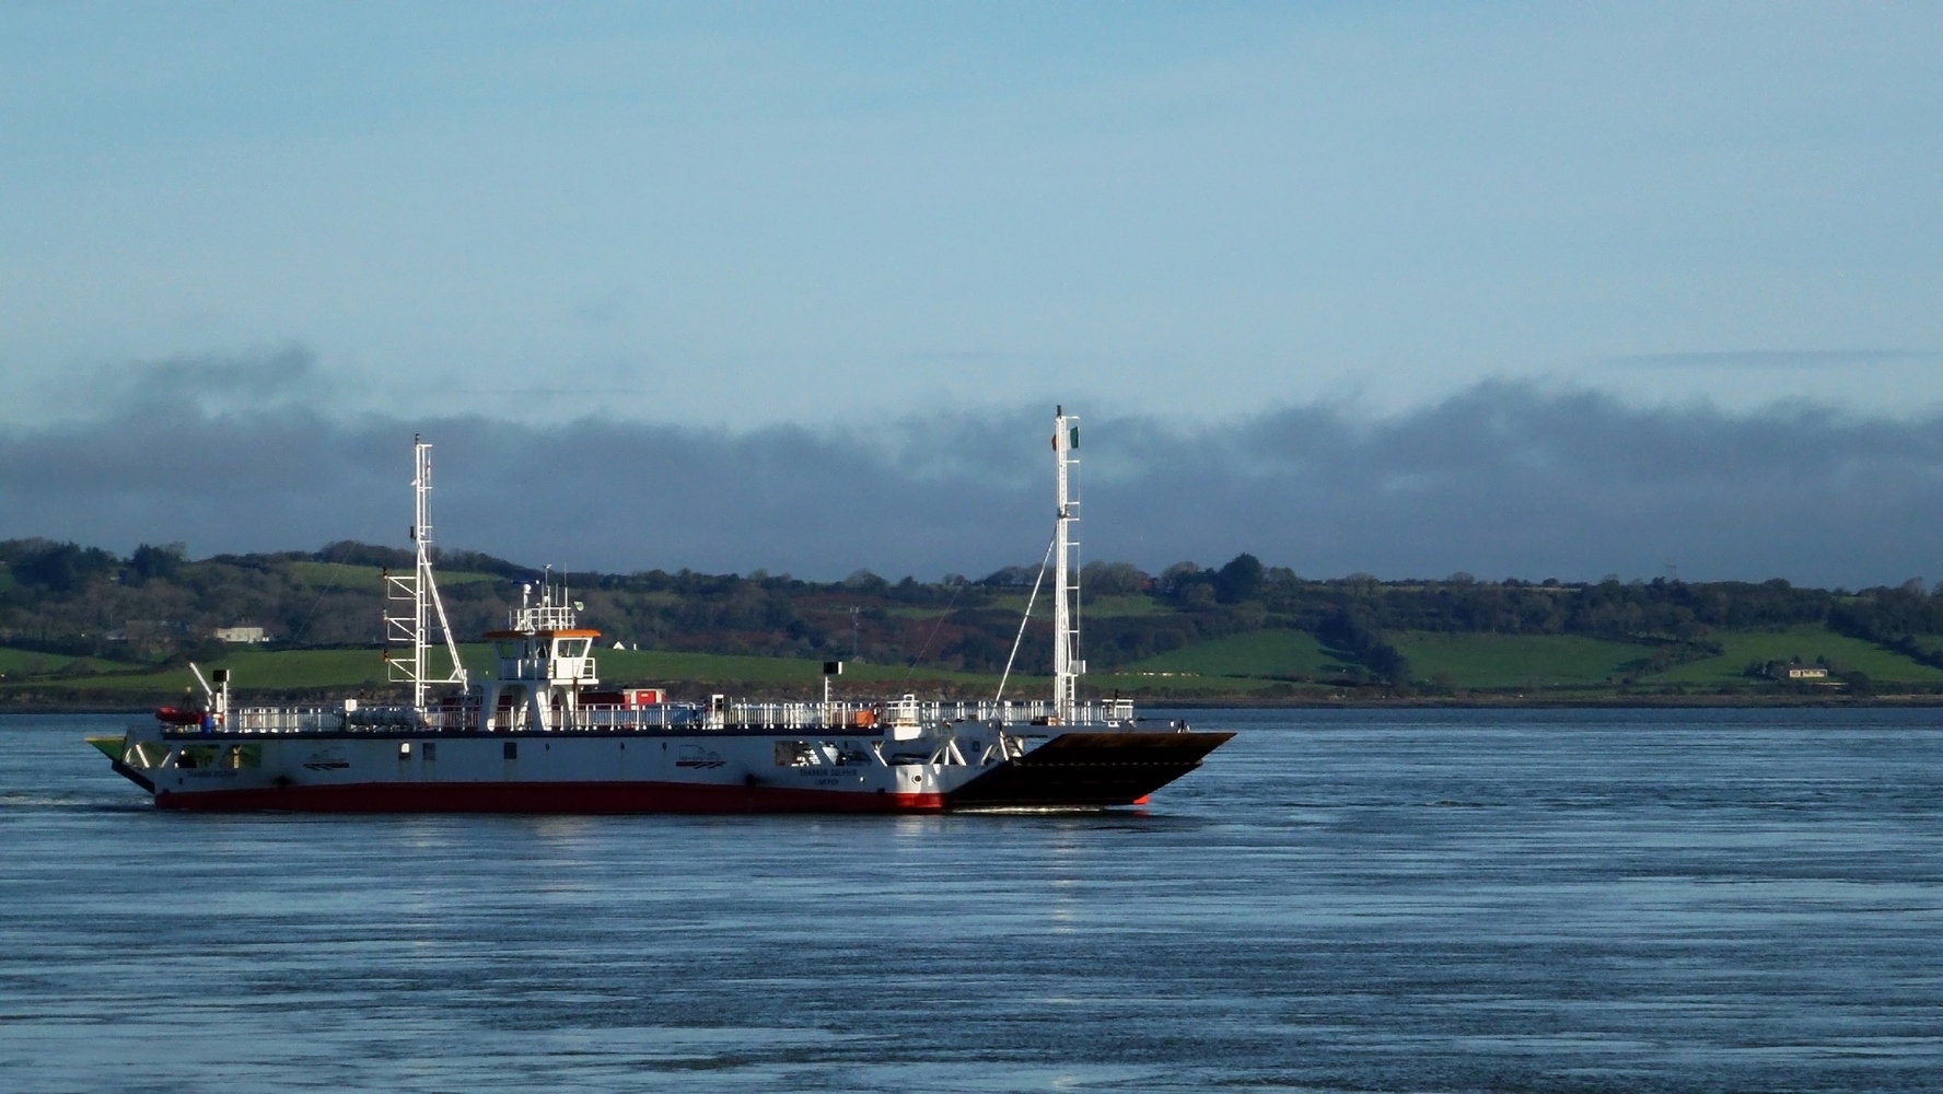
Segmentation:
{"type": "MultiPolygon", "coordinates": [[[[51,540],[0,542],[0,645],[119,661],[208,657],[216,628],[260,626],[276,645],[379,641],[381,589],[369,567],[408,567],[412,554],[359,542],[319,552],[188,560],[181,546],[120,558],[51,540]]],[[[443,552],[441,585],[460,637],[492,630],[534,567],[478,552],[443,552]]],[[[754,571],[565,573],[585,622],[639,649],[847,657],[995,672],[1040,571],[890,581],[857,571],[801,581],[754,571]]],[[[1049,581],[1047,581],[1049,585],[1049,581]]],[[[1881,589],[1797,589],[1788,581],[1380,581],[1356,573],[1302,579],[1244,554],[1218,567],[1191,562],[1158,575],[1123,562],[1084,569],[1084,645],[1109,668],[1183,645],[1261,628],[1313,633],[1368,680],[1401,682],[1397,632],[1576,633],[1636,641],[1659,667],[1718,653],[1720,630],[1823,624],[1943,663],[1924,635],[1943,633],[1943,595],[1910,581],[1881,589]]],[[[1020,667],[1049,659],[1047,591],[1020,647],[1020,667]]]]}

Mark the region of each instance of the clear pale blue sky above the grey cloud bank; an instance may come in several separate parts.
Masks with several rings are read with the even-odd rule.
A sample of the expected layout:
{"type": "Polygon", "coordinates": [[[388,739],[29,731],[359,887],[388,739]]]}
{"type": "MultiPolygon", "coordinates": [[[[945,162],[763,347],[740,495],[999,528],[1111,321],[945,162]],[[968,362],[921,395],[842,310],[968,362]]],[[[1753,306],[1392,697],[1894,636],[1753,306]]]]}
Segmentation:
{"type": "Polygon", "coordinates": [[[0,363],[332,404],[1943,400],[1933,6],[23,4],[0,363]]]}

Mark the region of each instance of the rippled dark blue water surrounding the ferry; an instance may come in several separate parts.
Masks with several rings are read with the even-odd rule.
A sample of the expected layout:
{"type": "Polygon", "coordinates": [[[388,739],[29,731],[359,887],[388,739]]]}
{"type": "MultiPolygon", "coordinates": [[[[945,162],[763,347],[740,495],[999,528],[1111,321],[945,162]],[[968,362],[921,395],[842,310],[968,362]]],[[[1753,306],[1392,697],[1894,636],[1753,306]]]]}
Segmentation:
{"type": "Polygon", "coordinates": [[[1146,814],[148,806],[0,717],[4,1090],[1935,1090],[1927,711],[1269,711],[1146,814]]]}

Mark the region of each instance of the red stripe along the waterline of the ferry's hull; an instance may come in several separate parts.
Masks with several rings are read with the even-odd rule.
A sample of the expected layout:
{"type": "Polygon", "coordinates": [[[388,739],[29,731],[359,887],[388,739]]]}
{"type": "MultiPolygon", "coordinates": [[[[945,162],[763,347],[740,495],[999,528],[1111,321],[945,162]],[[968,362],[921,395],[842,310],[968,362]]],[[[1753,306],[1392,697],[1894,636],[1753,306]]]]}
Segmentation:
{"type": "Polygon", "coordinates": [[[694,783],[358,783],[165,791],[161,808],[297,812],[937,812],[944,795],[694,783]]]}

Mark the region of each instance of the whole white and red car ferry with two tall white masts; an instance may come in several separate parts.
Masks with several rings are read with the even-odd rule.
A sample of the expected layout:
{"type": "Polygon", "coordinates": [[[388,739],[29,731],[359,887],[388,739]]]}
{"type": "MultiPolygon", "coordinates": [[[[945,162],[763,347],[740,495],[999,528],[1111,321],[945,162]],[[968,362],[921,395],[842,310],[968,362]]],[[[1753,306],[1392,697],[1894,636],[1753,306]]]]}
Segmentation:
{"type": "MultiPolygon", "coordinates": [[[[89,738],[159,808],[297,812],[942,812],[1141,806],[1230,733],[1137,717],[1080,694],[1078,418],[1053,414],[1055,519],[1020,637],[1051,569],[1053,686],[1045,698],[948,701],[903,694],[672,701],[598,678],[598,630],[552,577],[525,585],[472,680],[431,567],[431,445],[414,439],[412,573],[385,571],[387,674],[408,705],[251,707],[225,670],[200,705],[161,707],[89,738]],[[1049,564],[1049,565],[1047,565],[1049,564]],[[443,651],[433,643],[437,633],[443,651]],[[435,667],[435,653],[443,665],[435,667]]],[[[1012,643],[1012,659],[1020,641],[1012,643]]]]}

